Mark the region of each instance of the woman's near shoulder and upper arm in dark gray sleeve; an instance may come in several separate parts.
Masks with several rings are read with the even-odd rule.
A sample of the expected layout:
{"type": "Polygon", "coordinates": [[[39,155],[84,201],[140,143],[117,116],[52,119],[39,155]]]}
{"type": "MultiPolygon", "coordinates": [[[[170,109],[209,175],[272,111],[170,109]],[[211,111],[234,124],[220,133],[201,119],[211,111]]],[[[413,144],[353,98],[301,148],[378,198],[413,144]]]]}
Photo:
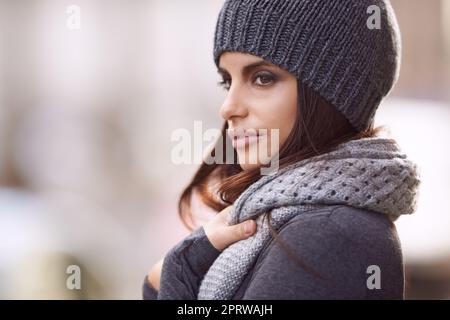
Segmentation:
{"type": "MultiPolygon", "coordinates": [[[[287,299],[403,298],[403,262],[395,226],[385,215],[345,205],[291,219],[267,244],[253,273],[254,280],[276,279],[284,288],[278,296],[287,299]],[[381,269],[381,290],[367,286],[372,266],[381,269]]],[[[259,291],[252,287],[250,292],[259,297],[261,286],[259,291]]]]}

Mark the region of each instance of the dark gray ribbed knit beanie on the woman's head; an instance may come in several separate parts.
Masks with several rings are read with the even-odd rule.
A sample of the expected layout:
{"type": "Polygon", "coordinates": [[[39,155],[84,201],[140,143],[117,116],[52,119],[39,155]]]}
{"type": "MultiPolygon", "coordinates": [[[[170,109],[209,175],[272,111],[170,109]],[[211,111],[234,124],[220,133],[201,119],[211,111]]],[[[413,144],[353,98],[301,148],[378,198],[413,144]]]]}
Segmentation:
{"type": "Polygon", "coordinates": [[[400,43],[389,0],[225,0],[214,61],[218,67],[225,51],[259,56],[315,90],[361,131],[397,81],[400,43]]]}

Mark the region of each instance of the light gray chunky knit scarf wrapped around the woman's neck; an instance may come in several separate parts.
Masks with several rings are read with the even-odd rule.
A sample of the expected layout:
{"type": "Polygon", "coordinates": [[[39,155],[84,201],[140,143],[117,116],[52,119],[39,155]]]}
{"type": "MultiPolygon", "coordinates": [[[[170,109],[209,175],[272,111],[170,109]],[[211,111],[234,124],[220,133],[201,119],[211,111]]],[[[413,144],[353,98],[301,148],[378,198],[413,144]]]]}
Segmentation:
{"type": "Polygon", "coordinates": [[[270,240],[263,213],[270,212],[275,230],[307,210],[336,204],[384,213],[395,221],[415,211],[419,183],[416,165],[385,138],[352,140],[263,176],[239,196],[229,216],[229,224],[255,219],[257,232],[219,255],[202,280],[198,299],[233,297],[270,240]]]}

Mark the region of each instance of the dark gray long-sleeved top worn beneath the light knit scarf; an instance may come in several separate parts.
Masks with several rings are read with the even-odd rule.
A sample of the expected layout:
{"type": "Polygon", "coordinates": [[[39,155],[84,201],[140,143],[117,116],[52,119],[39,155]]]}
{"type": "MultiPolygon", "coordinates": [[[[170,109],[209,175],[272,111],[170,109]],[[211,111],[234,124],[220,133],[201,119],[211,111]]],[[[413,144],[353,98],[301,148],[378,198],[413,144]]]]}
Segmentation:
{"type": "MultiPolygon", "coordinates": [[[[347,205],[312,209],[271,239],[232,299],[403,299],[400,241],[389,218],[347,205]]],[[[200,283],[219,256],[202,227],[166,256],[157,292],[147,280],[144,299],[197,299],[200,283]]]]}

